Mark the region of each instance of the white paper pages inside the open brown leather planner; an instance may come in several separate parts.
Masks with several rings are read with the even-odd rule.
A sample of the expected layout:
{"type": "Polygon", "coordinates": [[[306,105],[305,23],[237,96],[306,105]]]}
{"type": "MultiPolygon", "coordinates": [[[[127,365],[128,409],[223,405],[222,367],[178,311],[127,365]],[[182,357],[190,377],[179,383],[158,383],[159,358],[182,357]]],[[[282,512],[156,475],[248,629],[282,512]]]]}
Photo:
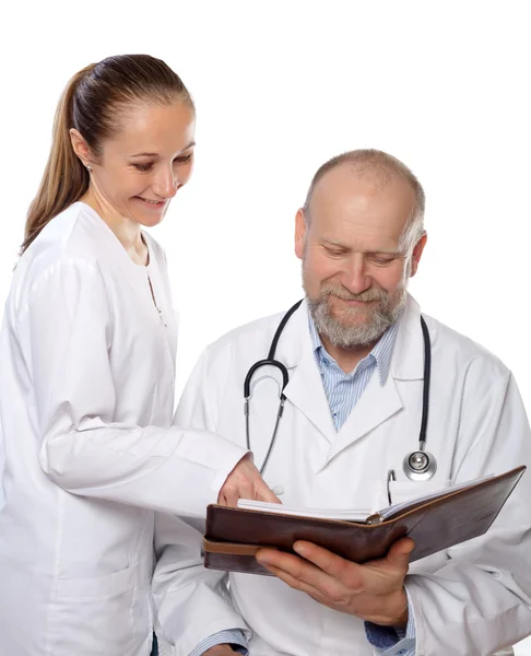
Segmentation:
{"type": "Polygon", "coordinates": [[[424,504],[427,501],[432,501],[440,496],[447,496],[448,494],[459,490],[472,488],[473,485],[476,485],[477,483],[486,481],[491,478],[494,478],[494,473],[483,476],[465,483],[450,485],[449,488],[444,488],[442,490],[438,490],[436,492],[429,492],[428,494],[423,494],[422,496],[415,496],[415,499],[411,499],[409,501],[396,503],[382,508],[381,511],[378,511],[377,513],[370,513],[370,511],[367,509],[355,508],[305,508],[291,505],[281,505],[278,503],[268,503],[266,501],[250,501],[247,499],[238,500],[238,508],[258,511],[262,513],[276,513],[279,515],[291,515],[292,517],[315,517],[317,519],[339,519],[341,522],[356,522],[358,524],[375,524],[377,522],[391,519],[392,517],[401,515],[402,513],[424,504]]]}

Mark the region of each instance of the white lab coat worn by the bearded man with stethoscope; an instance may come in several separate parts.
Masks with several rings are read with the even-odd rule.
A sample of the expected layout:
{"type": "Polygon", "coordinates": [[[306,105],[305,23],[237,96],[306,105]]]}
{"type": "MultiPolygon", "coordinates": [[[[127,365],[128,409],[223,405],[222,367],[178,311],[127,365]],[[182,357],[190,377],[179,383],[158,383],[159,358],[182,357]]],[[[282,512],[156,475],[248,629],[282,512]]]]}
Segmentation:
{"type": "MultiPolygon", "coordinates": [[[[206,349],[177,409],[178,424],[219,431],[245,445],[244,378],[252,363],[266,358],[281,317],[244,326],[206,349]]],[[[276,352],[290,371],[287,402],[264,473],[270,487],[282,485],[284,503],[376,509],[387,505],[384,482],[389,469],[397,472],[391,491],[398,502],[450,481],[531,465],[530,429],[510,372],[470,339],[429,317],[426,321],[433,358],[427,448],[438,468],[432,481],[411,482],[402,460],[417,447],[421,423],[424,350],[418,305],[409,297],[387,382],[381,386],[379,377],[371,376],[339,432],[315,362],[306,305],[293,315],[276,352]]],[[[270,444],[278,380],[272,367],[253,378],[250,432],[258,466],[270,444]]],[[[531,632],[530,500],[528,471],[485,537],[412,564],[406,587],[417,656],[486,656],[531,632]]],[[[189,642],[185,640],[181,648],[182,634],[192,628],[179,624],[181,599],[187,617],[204,624],[220,624],[225,612],[228,628],[233,611],[228,604],[221,609],[221,601],[205,601],[205,590],[221,586],[223,574],[199,565],[193,575],[190,560],[184,573],[175,571],[185,546],[172,546],[172,519],[161,519],[154,594],[163,654],[186,656],[189,642]]],[[[178,540],[176,534],[174,541],[178,540]]],[[[188,546],[190,553],[199,551],[198,535],[196,540],[188,546]]],[[[374,653],[361,620],[330,610],[279,579],[233,574],[231,593],[235,609],[252,630],[252,656],[374,653]]]]}

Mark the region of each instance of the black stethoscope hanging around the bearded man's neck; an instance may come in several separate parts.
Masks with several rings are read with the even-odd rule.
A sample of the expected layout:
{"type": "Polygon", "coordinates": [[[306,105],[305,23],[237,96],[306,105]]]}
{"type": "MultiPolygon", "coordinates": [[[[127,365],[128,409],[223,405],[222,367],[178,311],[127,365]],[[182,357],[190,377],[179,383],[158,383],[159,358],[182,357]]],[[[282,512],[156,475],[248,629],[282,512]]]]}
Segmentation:
{"type": "MultiPolygon", "coordinates": [[[[279,339],[284,330],[287,321],[290,320],[293,313],[298,309],[303,303],[303,300],[295,303],[293,307],[291,307],[286,314],[282,317],[279,327],[276,328],[276,332],[273,336],[273,340],[271,341],[271,348],[269,349],[268,356],[266,360],[259,360],[256,362],[250,370],[247,372],[247,376],[244,382],[244,398],[245,398],[245,434],[247,448],[250,450],[250,430],[249,430],[249,402],[250,402],[250,385],[252,376],[261,366],[274,366],[282,374],[282,388],[280,394],[279,409],[276,411],[276,421],[273,429],[273,434],[271,436],[271,441],[269,444],[268,453],[263,459],[262,466],[260,468],[260,473],[263,473],[268,461],[271,457],[271,453],[274,447],[274,443],[276,442],[276,435],[279,433],[279,424],[282,419],[282,414],[284,412],[284,403],[286,397],[284,395],[284,389],[290,382],[290,375],[287,373],[287,368],[282,362],[275,360],[276,345],[279,343],[279,339]]],[[[404,475],[412,481],[425,481],[429,480],[437,470],[437,460],[435,456],[433,456],[429,452],[426,450],[426,427],[427,427],[427,419],[428,419],[428,409],[429,409],[429,382],[432,377],[432,345],[429,343],[429,332],[426,326],[426,321],[421,315],[421,327],[422,335],[424,340],[424,376],[423,376],[423,395],[422,395],[422,419],[421,419],[421,433],[418,435],[418,448],[411,454],[408,454],[402,461],[402,469],[404,475]]],[[[388,473],[388,489],[389,489],[389,480],[390,477],[394,477],[394,472],[391,470],[388,473]]],[[[392,480],[392,479],[391,479],[392,480]]]]}

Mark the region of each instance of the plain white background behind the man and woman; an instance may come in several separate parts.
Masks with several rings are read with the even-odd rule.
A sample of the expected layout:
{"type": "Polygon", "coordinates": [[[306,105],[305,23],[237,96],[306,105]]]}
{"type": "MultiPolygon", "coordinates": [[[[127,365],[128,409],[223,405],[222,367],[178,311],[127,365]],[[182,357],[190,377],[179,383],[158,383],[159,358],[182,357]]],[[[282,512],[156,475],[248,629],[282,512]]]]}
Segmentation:
{"type": "MultiPolygon", "coordinates": [[[[67,80],[108,55],[148,52],[182,77],[198,109],[194,177],[154,231],[181,315],[179,391],[209,341],[300,296],[293,224],[311,175],[334,154],[371,147],[403,160],[426,190],[428,245],[413,294],[495,352],[531,411],[527,7],[10,3],[0,52],[2,302],[67,80]]],[[[531,655],[527,642],[518,654],[531,655]]]]}

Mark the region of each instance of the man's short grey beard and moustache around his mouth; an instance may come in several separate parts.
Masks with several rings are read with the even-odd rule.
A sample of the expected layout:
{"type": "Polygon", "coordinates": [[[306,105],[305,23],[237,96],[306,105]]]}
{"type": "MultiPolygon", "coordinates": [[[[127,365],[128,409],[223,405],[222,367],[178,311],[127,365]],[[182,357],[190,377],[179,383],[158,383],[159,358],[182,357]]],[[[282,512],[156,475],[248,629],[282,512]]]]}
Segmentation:
{"type": "MultiPolygon", "coordinates": [[[[381,289],[370,289],[361,294],[352,294],[342,286],[324,284],[317,298],[306,294],[308,309],[316,328],[321,337],[326,337],[332,344],[342,349],[367,347],[376,343],[386,330],[397,321],[408,297],[408,288],[404,286],[392,296],[381,289]],[[342,324],[337,319],[328,303],[330,296],[339,296],[345,301],[376,301],[374,307],[369,306],[368,320],[363,324],[342,324]]],[[[365,312],[362,311],[364,314],[365,312]]],[[[357,307],[345,307],[344,317],[356,317],[361,314],[357,307]]]]}

